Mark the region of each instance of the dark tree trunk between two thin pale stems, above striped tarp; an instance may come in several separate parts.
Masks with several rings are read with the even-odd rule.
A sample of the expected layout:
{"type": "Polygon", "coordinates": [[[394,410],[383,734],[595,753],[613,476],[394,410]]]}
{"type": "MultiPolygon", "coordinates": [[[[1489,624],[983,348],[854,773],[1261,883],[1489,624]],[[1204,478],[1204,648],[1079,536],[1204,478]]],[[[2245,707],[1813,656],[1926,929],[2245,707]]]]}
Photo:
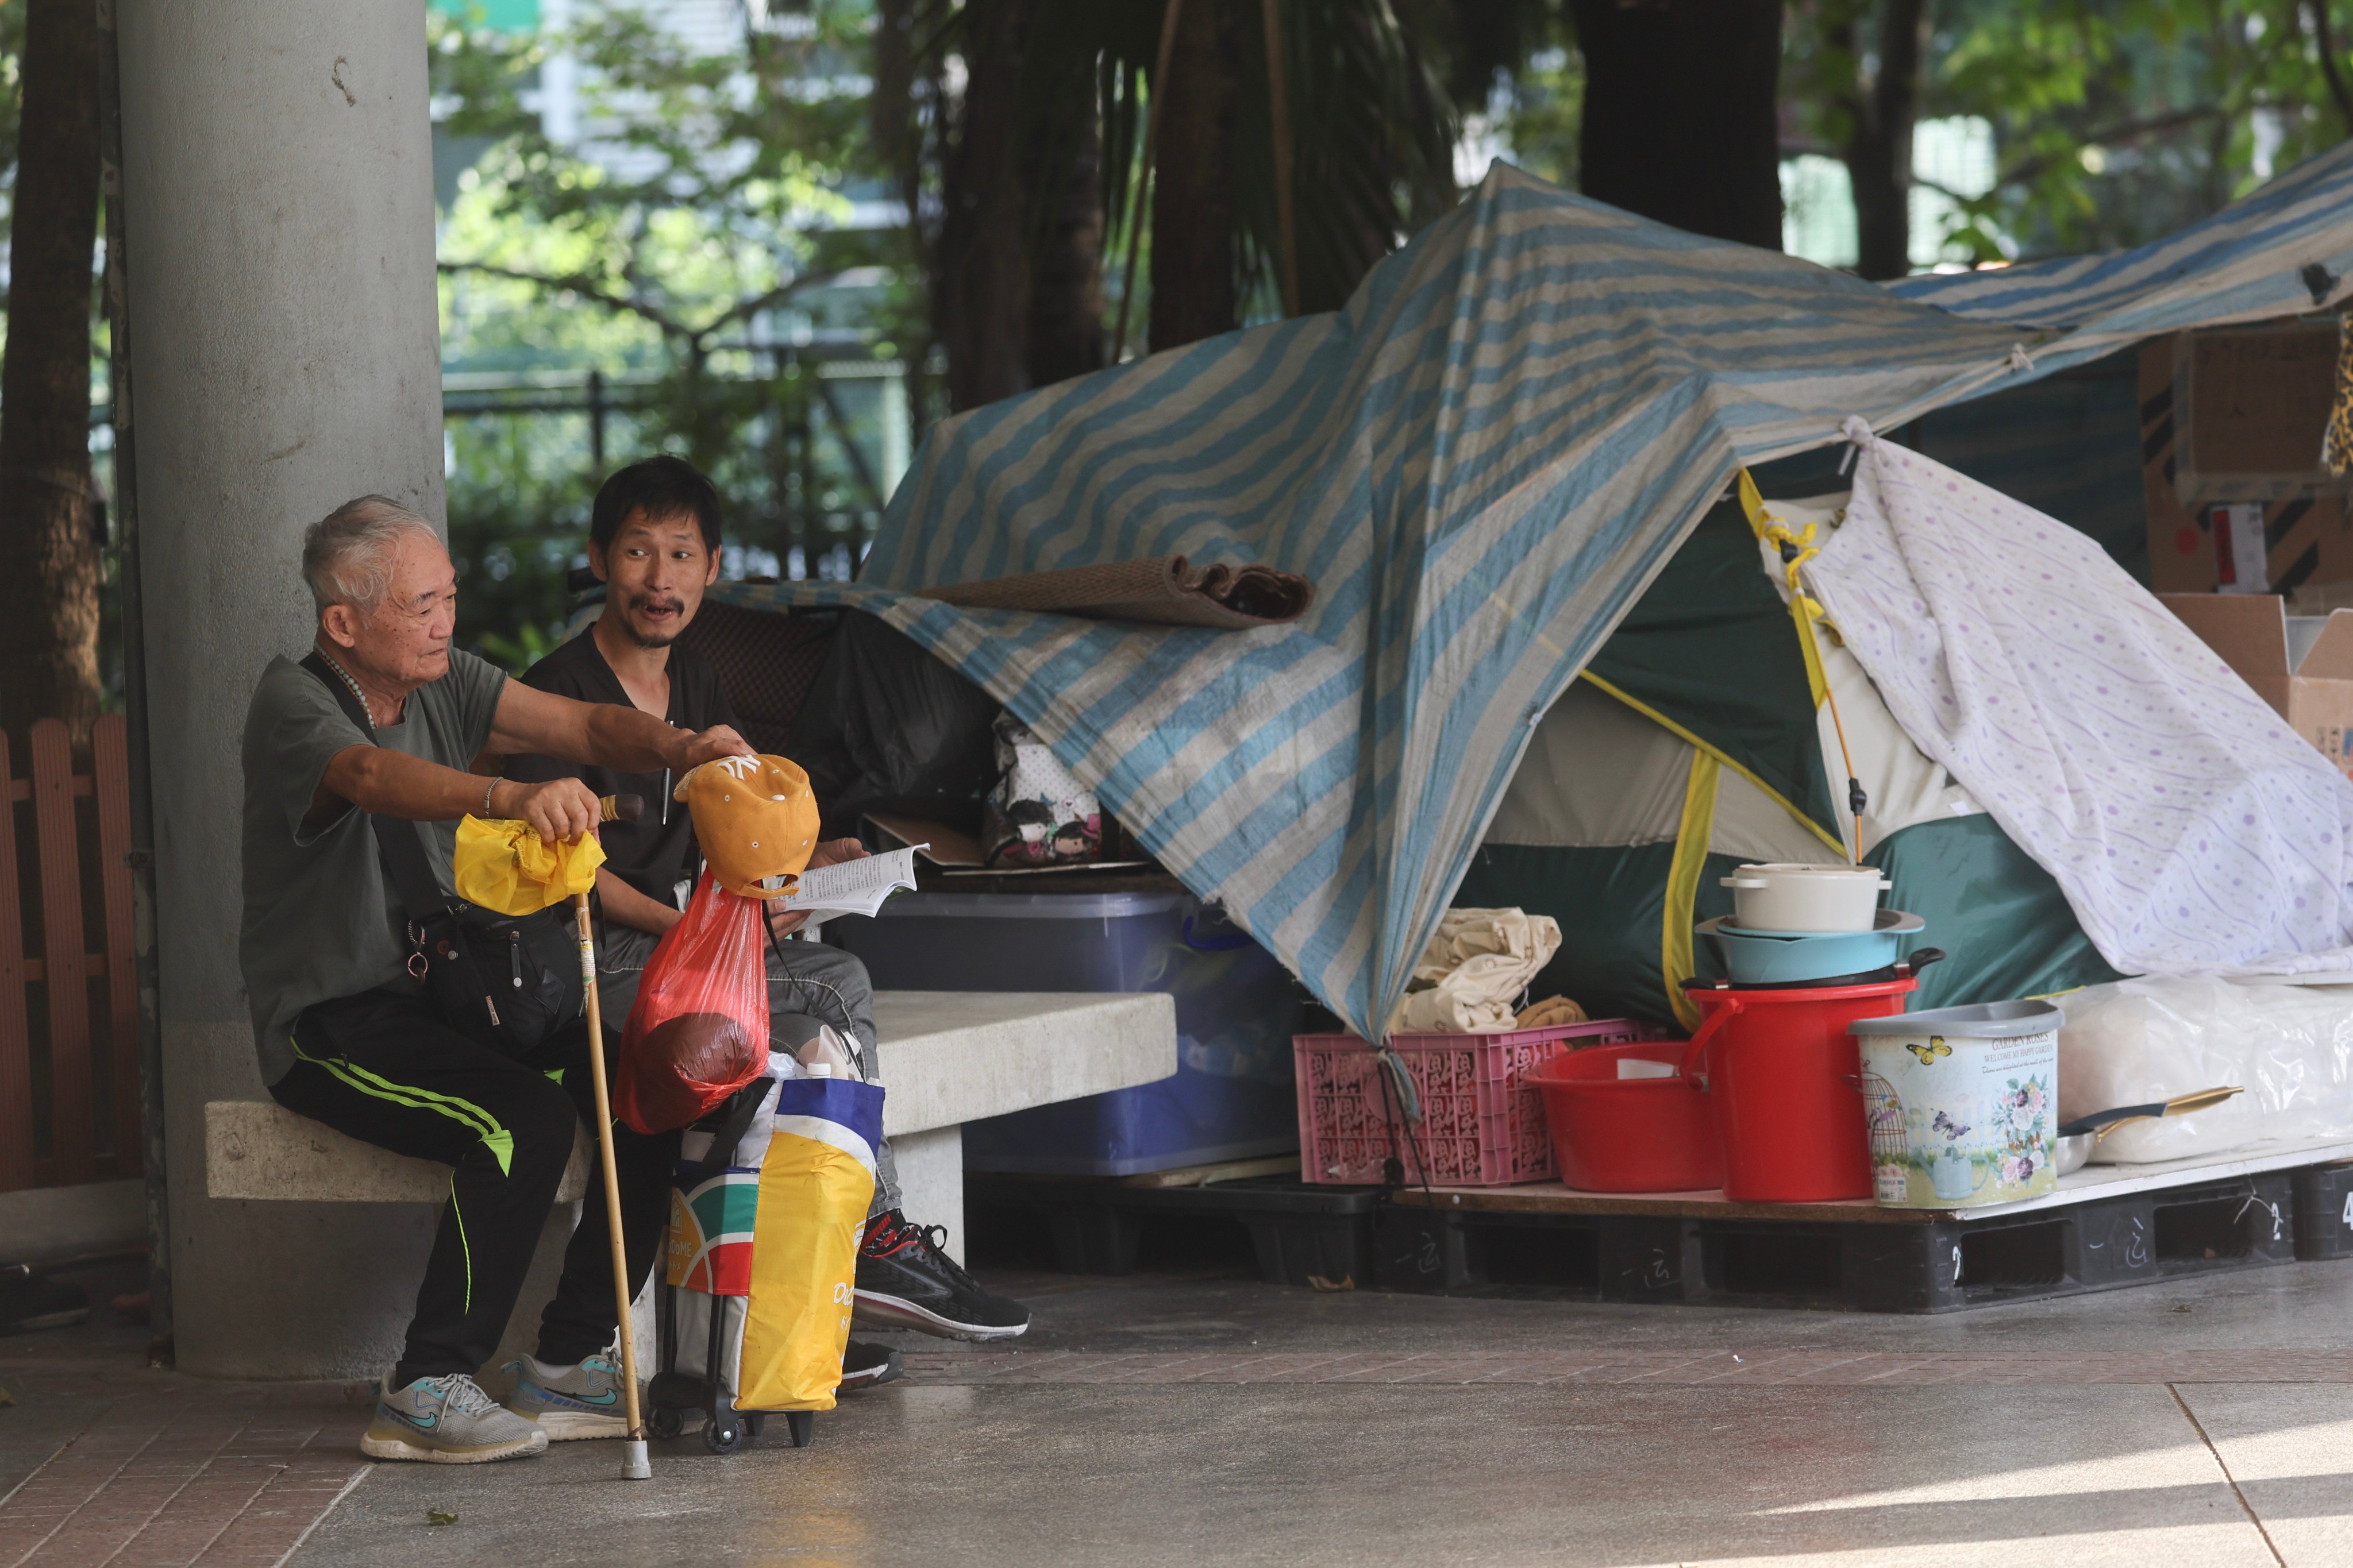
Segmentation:
{"type": "MultiPolygon", "coordinates": [[[[1238,0],[1184,0],[1153,155],[1153,350],[1240,324],[1233,289],[1233,113],[1240,78],[1238,0]]],[[[1257,9],[1252,9],[1252,21],[1257,9]]]]}

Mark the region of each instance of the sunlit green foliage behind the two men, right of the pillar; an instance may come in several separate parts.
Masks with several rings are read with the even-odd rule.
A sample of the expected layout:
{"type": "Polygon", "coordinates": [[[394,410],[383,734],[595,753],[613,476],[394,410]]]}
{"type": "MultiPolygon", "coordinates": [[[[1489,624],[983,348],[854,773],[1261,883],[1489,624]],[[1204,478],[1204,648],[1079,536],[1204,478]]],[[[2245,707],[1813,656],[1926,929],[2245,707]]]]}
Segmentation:
{"type": "Polygon", "coordinates": [[[741,52],[696,54],[619,2],[539,38],[431,19],[433,89],[452,106],[438,134],[473,153],[440,235],[442,362],[572,388],[551,393],[572,402],[555,414],[447,421],[468,646],[525,668],[569,616],[565,571],[586,564],[602,480],[579,371],[616,383],[607,468],[675,451],[711,473],[739,571],[849,545],[875,510],[859,480],[873,456],[852,451],[873,418],[835,421],[847,400],[776,341],[892,320],[896,294],[871,275],[887,240],[842,223],[873,162],[864,28],[866,7],[819,2],[791,35],[748,28],[741,52]],[[584,75],[581,146],[525,106],[558,54],[584,75]]]}

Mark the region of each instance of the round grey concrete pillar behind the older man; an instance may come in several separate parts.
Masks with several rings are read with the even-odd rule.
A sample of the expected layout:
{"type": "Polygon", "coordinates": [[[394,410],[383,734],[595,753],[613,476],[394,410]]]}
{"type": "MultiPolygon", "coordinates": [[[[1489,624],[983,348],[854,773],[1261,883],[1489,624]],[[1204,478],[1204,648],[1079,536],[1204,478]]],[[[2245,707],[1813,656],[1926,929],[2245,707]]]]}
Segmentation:
{"type": "Polygon", "coordinates": [[[238,738],[311,642],[301,531],[442,515],[424,0],[118,0],[179,1363],[374,1375],[421,1204],[205,1197],[205,1100],[259,1098],[238,978],[238,738]]]}

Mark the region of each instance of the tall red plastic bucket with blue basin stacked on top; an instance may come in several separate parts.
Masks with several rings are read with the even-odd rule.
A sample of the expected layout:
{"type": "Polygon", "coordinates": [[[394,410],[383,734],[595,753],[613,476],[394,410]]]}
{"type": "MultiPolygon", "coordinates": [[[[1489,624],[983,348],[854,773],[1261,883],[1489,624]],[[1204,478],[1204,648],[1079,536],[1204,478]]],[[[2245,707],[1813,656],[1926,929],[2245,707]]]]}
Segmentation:
{"type": "Polygon", "coordinates": [[[1901,1013],[1920,983],[1704,990],[1682,1074],[1704,1077],[1725,1152],[1725,1197],[1809,1204],[1871,1197],[1871,1138],[1847,1025],[1901,1013]]]}

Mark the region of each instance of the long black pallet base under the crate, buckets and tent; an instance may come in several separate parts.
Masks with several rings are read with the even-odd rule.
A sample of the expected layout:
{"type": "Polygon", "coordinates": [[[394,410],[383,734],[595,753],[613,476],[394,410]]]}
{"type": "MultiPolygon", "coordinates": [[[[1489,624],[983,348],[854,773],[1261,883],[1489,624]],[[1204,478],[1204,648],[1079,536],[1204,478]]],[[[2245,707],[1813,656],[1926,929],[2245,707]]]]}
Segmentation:
{"type": "Polygon", "coordinates": [[[1129,1274],[1153,1218],[1249,1229],[1268,1284],[1440,1295],[1958,1312],[2292,1260],[2353,1258],[2353,1143],[2092,1166],[1984,1208],[1739,1204],[1722,1192],[1329,1187],[1280,1178],[1141,1187],[967,1178],[974,1208],[1045,1220],[1059,1267],[1129,1274]]]}

